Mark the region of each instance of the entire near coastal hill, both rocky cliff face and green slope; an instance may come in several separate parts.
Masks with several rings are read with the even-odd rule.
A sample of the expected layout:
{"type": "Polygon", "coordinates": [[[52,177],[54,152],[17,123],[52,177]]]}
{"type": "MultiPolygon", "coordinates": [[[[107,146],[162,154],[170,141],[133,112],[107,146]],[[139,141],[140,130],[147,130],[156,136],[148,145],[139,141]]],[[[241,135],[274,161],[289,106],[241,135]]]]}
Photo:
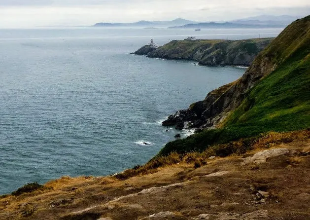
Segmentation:
{"type": "Polygon", "coordinates": [[[258,54],[241,78],[170,115],[198,134],[168,143],[160,155],[203,150],[268,131],[310,127],[310,16],[299,19],[258,54]]]}

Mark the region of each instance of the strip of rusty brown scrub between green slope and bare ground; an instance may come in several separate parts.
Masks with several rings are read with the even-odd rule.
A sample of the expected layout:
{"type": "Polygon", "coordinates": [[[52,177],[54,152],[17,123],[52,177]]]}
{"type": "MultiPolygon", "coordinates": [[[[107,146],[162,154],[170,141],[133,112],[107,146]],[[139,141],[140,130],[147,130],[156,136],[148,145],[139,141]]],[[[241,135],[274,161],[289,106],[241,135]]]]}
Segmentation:
{"type": "Polygon", "coordinates": [[[168,156],[159,156],[150,160],[142,166],[136,166],[132,169],[125,170],[117,174],[115,177],[120,180],[126,180],[137,175],[145,175],[157,172],[157,168],[165,167],[177,163],[194,164],[198,168],[207,163],[210,156],[225,157],[229,155],[241,155],[248,150],[265,149],[275,147],[282,143],[290,143],[293,141],[305,141],[310,138],[309,130],[300,130],[292,132],[268,132],[255,138],[240,139],[239,141],[227,144],[214,145],[208,147],[203,152],[189,152],[178,154],[172,152],[168,156]]]}

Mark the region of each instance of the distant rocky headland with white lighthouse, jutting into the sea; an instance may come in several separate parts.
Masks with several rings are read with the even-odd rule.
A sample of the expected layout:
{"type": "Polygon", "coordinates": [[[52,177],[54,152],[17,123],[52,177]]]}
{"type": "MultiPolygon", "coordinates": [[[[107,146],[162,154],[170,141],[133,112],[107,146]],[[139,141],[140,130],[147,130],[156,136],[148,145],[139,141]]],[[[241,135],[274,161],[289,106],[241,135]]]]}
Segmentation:
{"type": "Polygon", "coordinates": [[[191,60],[205,66],[250,66],[273,38],[247,40],[172,40],[157,49],[148,45],[134,54],[148,57],[191,60]]]}

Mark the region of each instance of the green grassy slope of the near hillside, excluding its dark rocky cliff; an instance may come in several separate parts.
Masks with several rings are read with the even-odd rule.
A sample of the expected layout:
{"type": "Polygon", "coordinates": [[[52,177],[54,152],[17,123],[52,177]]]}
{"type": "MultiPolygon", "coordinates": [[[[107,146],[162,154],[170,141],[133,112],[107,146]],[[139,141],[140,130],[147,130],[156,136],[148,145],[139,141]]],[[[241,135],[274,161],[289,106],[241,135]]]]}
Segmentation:
{"type": "MultiPolygon", "coordinates": [[[[204,150],[208,145],[253,137],[267,131],[309,128],[310,16],[293,22],[273,40],[253,61],[249,71],[256,69],[271,73],[258,73],[265,76],[244,94],[241,105],[231,111],[217,128],[168,143],[160,155],[172,151],[204,150]],[[269,60],[266,70],[260,66],[264,60],[269,60]]],[[[242,77],[255,77],[255,74],[242,77]]]]}

